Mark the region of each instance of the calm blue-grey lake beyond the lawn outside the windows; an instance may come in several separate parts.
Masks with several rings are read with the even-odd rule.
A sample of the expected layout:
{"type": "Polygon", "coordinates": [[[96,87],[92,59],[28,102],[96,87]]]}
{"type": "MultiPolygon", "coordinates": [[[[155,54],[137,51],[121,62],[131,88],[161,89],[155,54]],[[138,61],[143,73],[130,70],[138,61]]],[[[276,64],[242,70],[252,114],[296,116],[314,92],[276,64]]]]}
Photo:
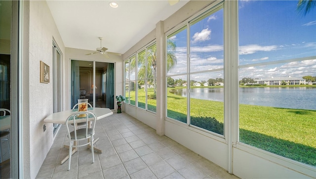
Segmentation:
{"type": "MultiPolygon", "coordinates": [[[[191,98],[224,101],[224,88],[193,88],[191,98]]],[[[187,97],[187,89],[172,89],[172,93],[187,97]]],[[[316,110],[314,87],[239,88],[239,103],[290,109],[316,110]]]]}

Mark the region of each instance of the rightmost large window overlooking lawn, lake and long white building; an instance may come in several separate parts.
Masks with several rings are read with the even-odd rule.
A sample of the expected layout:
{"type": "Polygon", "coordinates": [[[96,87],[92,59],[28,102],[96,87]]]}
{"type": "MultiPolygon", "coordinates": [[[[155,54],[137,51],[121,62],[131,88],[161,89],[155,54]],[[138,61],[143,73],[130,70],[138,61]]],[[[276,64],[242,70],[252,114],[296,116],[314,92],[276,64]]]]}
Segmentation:
{"type": "Polygon", "coordinates": [[[238,2],[239,141],[316,166],[316,8],[238,2]]]}

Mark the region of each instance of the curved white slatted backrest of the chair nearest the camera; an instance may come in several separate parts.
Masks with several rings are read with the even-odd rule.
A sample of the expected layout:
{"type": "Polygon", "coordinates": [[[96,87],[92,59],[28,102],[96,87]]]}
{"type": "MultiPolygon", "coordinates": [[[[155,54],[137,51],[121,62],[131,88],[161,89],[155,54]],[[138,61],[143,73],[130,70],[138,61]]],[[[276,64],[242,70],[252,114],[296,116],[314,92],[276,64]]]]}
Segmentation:
{"type": "Polygon", "coordinates": [[[66,127],[67,127],[67,132],[68,132],[68,137],[70,140],[83,140],[83,139],[88,139],[90,137],[93,137],[93,134],[94,134],[94,127],[95,127],[95,123],[96,123],[96,116],[91,113],[91,112],[88,112],[88,111],[81,111],[81,112],[76,112],[72,115],[70,115],[67,120],[66,120],[66,127]],[[79,115],[85,115],[85,117],[78,117],[79,115]],[[92,121],[92,125],[91,125],[91,128],[89,128],[88,126],[88,122],[92,121]],[[80,128],[77,130],[77,125],[76,123],[80,123],[80,122],[85,122],[86,123],[86,126],[85,128],[80,128]],[[73,123],[74,124],[74,131],[72,131],[72,128],[70,129],[69,128],[69,125],[70,123],[73,123]],[[82,132],[82,130],[85,130],[85,133],[80,133],[81,135],[77,135],[77,132],[80,131],[82,132]],[[92,136],[88,136],[89,132],[91,133],[91,130],[92,130],[92,136]],[[74,136],[73,136],[73,139],[71,137],[71,132],[74,133],[74,136]],[[83,135],[84,134],[84,135],[83,135]]]}

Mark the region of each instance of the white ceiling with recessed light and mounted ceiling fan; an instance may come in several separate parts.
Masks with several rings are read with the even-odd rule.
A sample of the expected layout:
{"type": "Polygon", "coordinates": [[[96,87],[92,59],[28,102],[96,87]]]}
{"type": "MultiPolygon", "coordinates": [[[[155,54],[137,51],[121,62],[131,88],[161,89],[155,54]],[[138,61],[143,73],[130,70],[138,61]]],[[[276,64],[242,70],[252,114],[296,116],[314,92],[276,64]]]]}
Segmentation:
{"type": "Polygon", "coordinates": [[[185,5],[180,0],[170,5],[168,0],[47,0],[48,7],[63,39],[70,48],[124,54],[135,43],[185,5]],[[115,1],[118,8],[110,7],[115,1]]]}

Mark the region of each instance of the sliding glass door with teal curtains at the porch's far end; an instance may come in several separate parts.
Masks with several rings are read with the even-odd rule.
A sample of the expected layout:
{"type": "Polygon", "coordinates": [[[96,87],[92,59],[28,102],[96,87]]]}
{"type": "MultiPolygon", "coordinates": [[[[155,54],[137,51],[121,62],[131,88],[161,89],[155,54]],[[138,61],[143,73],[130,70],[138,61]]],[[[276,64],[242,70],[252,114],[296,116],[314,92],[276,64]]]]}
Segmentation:
{"type": "Polygon", "coordinates": [[[71,107],[88,99],[93,107],[114,109],[114,63],[71,61],[71,107]]]}

